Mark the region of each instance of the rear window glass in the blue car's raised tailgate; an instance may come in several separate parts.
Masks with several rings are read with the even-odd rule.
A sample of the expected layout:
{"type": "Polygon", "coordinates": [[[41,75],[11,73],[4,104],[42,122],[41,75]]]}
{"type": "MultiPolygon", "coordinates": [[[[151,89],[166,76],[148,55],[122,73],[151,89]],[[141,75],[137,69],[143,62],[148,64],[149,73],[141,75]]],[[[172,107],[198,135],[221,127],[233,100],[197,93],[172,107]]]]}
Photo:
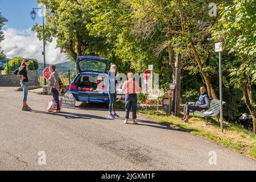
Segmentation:
{"type": "Polygon", "coordinates": [[[81,71],[97,71],[104,73],[106,63],[98,60],[83,60],[79,62],[79,67],[81,71]]]}

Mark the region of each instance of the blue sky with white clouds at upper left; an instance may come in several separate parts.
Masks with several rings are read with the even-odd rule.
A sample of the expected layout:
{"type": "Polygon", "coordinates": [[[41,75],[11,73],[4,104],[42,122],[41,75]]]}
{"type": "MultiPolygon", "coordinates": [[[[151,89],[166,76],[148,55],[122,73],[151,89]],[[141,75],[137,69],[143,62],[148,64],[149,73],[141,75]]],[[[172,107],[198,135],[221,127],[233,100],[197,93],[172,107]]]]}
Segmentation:
{"type": "MultiPolygon", "coordinates": [[[[32,20],[30,12],[33,7],[39,7],[36,0],[0,0],[0,13],[8,20],[3,33],[5,40],[0,45],[9,58],[21,56],[35,58],[43,63],[43,41],[39,41],[36,32],[31,28],[35,23],[42,24],[42,13],[36,11],[36,19],[32,20]]],[[[67,57],[56,48],[56,39],[46,45],[46,63],[63,63],[67,57]]]]}

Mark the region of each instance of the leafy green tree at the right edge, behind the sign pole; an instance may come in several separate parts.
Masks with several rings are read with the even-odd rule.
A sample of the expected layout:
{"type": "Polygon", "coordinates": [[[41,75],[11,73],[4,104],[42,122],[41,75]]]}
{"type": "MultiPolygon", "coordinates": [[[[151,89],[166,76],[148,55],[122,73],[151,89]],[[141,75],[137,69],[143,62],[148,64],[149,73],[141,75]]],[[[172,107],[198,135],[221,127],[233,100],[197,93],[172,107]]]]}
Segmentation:
{"type": "Polygon", "coordinates": [[[253,119],[256,133],[256,15],[255,0],[233,0],[232,5],[221,7],[221,18],[214,36],[224,42],[224,49],[236,53],[239,64],[232,67],[232,82],[242,89],[243,101],[253,119]]]}

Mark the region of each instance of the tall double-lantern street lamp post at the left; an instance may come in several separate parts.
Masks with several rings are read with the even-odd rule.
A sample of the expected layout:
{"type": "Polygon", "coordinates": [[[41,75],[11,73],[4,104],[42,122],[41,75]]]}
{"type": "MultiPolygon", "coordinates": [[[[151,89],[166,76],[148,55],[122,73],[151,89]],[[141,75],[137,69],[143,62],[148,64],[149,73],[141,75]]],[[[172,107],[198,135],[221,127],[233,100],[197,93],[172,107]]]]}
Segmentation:
{"type": "MultiPolygon", "coordinates": [[[[46,45],[44,42],[44,7],[34,7],[30,13],[30,16],[32,18],[32,20],[35,20],[36,18],[36,12],[35,10],[42,10],[43,11],[43,52],[42,55],[44,56],[44,68],[46,68],[46,45]]],[[[51,12],[49,13],[51,18],[55,17],[55,11],[51,10],[51,12]]],[[[44,85],[46,85],[46,78],[44,78],[44,85]]]]}

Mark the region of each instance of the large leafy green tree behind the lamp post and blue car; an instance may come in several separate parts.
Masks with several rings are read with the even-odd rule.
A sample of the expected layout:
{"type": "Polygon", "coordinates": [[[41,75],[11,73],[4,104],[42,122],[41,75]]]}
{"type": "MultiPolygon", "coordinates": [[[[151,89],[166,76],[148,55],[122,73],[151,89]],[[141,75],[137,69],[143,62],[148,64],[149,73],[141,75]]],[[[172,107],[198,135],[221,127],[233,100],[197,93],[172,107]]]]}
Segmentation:
{"type": "MultiPolygon", "coordinates": [[[[77,56],[100,55],[100,50],[106,49],[105,40],[91,36],[86,24],[92,18],[91,7],[82,0],[38,0],[47,7],[46,40],[57,39],[57,47],[69,59],[76,60],[77,56]],[[56,16],[51,19],[49,11],[55,10],[56,16]]],[[[33,31],[38,32],[38,38],[43,39],[43,27],[36,24],[33,31]]]]}

